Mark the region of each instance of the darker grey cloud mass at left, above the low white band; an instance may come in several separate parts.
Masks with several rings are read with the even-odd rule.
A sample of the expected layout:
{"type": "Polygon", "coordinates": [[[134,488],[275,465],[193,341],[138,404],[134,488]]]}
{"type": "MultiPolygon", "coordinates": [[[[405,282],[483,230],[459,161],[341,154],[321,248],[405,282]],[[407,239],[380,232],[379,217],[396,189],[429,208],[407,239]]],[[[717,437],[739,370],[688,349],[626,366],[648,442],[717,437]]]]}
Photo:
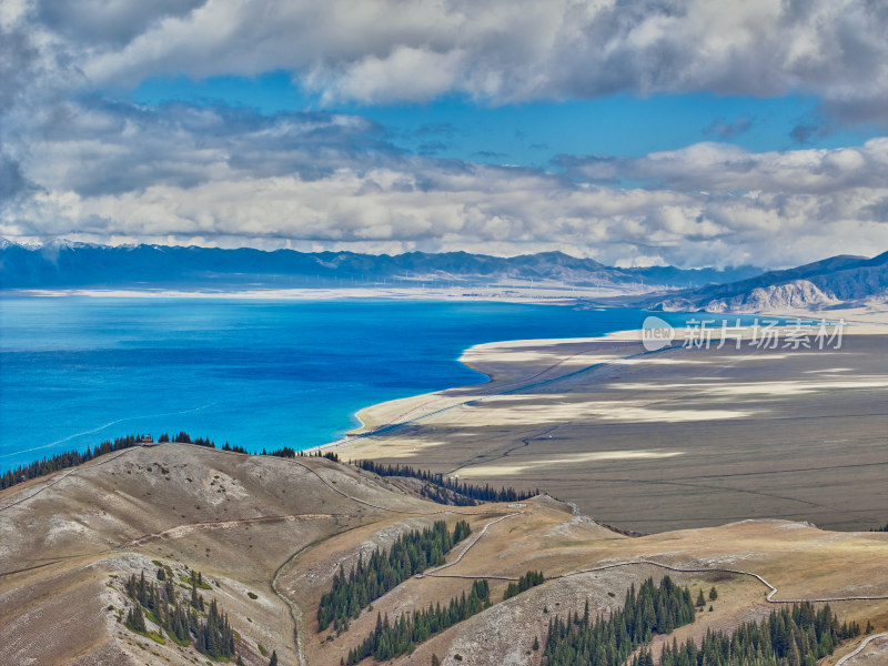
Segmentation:
{"type": "Polygon", "coordinates": [[[170,184],[297,175],[312,181],[343,163],[366,169],[396,151],[356,115],[280,113],[102,99],[69,101],[29,144],[28,173],[51,190],[119,194],[170,184]]]}

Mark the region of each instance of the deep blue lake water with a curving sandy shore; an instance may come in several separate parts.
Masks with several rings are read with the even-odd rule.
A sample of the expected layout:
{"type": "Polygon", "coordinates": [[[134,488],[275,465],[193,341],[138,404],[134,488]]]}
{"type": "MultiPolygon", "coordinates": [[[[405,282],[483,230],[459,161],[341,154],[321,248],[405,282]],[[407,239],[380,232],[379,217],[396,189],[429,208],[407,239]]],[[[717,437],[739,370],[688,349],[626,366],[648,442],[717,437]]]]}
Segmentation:
{"type": "Polygon", "coordinates": [[[484,382],[457,361],[473,344],[598,335],[644,316],[480,302],[2,299],[0,472],[134,433],[305,448],[354,427],[361,407],[484,382]]]}

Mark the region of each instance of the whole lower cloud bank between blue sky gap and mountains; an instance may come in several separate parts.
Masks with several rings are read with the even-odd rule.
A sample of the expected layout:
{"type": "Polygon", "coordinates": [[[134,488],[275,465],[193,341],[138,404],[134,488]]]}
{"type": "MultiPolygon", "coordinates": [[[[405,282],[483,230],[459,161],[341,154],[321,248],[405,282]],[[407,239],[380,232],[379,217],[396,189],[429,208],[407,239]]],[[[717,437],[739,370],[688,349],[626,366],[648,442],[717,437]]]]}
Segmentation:
{"type": "Polygon", "coordinates": [[[773,266],[888,245],[888,139],[787,153],[703,143],[557,174],[403,153],[351,115],[95,99],[64,118],[31,145],[42,190],[0,218],[3,235],[773,266]]]}

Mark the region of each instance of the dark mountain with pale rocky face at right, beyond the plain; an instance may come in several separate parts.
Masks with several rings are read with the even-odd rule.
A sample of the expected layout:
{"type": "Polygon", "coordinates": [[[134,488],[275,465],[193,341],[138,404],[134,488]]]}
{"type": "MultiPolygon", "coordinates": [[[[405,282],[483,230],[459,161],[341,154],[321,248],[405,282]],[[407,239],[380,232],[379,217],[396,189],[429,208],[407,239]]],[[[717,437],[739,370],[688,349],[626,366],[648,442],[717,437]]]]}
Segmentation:
{"type": "Polygon", "coordinates": [[[763,312],[821,310],[888,300],[888,252],[872,259],[839,255],[729,284],[707,285],[644,300],[655,310],[763,312]]]}

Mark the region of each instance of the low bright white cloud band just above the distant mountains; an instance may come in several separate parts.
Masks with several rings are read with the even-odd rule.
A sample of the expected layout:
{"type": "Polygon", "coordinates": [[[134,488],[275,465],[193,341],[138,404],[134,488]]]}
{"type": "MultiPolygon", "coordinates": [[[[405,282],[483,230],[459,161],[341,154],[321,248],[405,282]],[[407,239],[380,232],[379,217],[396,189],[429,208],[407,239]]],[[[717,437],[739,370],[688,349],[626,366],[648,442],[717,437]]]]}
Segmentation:
{"type": "Polygon", "coordinates": [[[885,206],[888,189],[840,200],[693,195],[566,189],[545,174],[515,179],[481,168],[461,180],[458,189],[423,190],[413,174],[343,169],[311,182],[239,178],[98,196],[50,192],[4,220],[2,232],[266,248],[295,239],[376,252],[563,249],[606,263],[640,255],[680,265],[771,266],[839,252],[872,254],[887,238],[871,209],[885,206]]]}

